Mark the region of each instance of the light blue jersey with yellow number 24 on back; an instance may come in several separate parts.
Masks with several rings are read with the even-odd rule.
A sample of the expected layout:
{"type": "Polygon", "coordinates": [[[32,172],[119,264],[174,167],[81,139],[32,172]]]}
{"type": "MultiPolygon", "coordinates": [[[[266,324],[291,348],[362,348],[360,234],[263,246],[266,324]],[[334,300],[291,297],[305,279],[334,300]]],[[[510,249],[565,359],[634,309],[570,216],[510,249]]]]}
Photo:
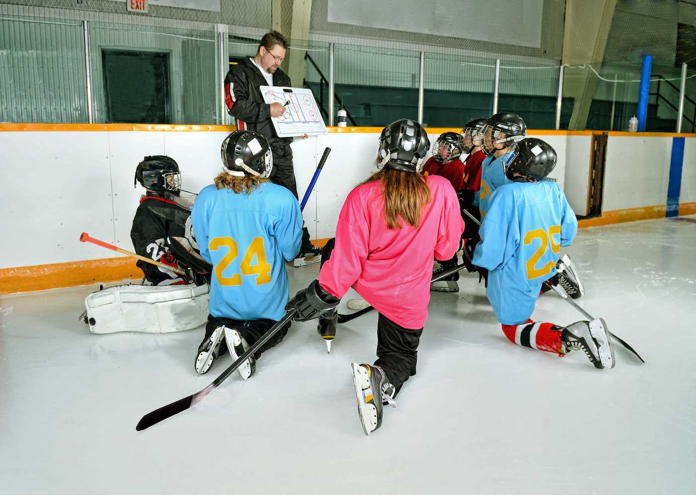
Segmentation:
{"type": "Polygon", "coordinates": [[[290,285],[285,260],[302,240],[302,214],[292,193],[264,182],[251,194],[209,185],[191,213],[203,256],[214,267],[210,314],[232,320],[280,320],[290,285]]]}

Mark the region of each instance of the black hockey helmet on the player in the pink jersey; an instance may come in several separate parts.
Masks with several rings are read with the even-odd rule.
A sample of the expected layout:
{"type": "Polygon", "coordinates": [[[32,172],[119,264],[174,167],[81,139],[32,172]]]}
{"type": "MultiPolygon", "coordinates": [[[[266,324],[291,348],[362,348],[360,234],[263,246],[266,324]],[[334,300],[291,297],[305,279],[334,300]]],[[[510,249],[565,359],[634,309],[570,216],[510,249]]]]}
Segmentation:
{"type": "Polygon", "coordinates": [[[377,167],[418,172],[430,149],[428,134],[416,120],[402,118],[382,129],[377,150],[377,167]]]}

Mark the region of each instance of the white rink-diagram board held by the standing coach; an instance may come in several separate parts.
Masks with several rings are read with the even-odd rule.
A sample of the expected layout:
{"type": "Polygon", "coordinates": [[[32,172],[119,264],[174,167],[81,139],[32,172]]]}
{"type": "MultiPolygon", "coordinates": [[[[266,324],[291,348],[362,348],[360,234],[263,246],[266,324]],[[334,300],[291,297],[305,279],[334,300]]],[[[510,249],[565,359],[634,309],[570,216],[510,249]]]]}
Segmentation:
{"type": "Polygon", "coordinates": [[[259,89],[264,102],[287,103],[283,115],[271,117],[278,137],[326,134],[326,125],[312,90],[284,86],[259,86],[259,89]]]}

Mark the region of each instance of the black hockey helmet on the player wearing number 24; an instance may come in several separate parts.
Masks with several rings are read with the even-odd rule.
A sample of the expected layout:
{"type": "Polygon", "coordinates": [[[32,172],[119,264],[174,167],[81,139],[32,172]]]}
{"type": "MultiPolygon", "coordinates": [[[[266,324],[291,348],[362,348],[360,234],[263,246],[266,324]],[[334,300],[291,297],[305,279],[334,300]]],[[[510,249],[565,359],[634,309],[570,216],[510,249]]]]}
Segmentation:
{"type": "Polygon", "coordinates": [[[235,131],[222,142],[220,155],[223,170],[237,177],[260,177],[271,175],[273,155],[268,140],[254,131],[235,131]]]}

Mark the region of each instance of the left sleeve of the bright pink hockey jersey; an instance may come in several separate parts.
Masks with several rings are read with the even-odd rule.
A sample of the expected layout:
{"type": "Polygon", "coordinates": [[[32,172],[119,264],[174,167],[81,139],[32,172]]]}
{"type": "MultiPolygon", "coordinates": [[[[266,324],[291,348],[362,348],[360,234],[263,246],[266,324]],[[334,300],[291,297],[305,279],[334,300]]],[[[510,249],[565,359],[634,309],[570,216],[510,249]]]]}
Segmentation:
{"type": "Polygon", "coordinates": [[[367,228],[364,207],[358,194],[348,195],[338,216],[331,258],[319,272],[319,284],[339,299],[358,280],[363,263],[367,260],[370,230],[367,228]]]}

